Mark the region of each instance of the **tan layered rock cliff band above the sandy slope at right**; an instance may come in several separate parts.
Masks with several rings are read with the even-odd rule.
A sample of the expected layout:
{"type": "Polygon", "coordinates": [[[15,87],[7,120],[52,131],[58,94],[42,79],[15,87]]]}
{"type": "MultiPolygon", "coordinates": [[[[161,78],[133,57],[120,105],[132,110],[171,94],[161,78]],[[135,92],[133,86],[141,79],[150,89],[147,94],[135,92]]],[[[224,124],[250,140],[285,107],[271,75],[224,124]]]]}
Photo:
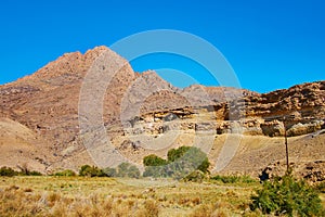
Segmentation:
{"type": "Polygon", "coordinates": [[[204,87],[195,86],[168,95],[165,93],[150,98],[152,103],[164,104],[164,99],[167,100],[167,105],[173,102],[173,99],[177,99],[177,102],[167,107],[151,106],[151,110],[143,111],[138,119],[161,122],[164,115],[176,111],[176,106],[178,111],[184,112],[184,107],[192,107],[191,115],[180,118],[186,120],[188,126],[196,124],[196,129],[200,131],[205,128],[204,130],[216,130],[217,135],[225,133],[232,131],[233,123],[238,123],[242,127],[240,133],[244,135],[281,137],[287,131],[288,137],[301,136],[325,128],[324,87],[325,81],[318,81],[265,94],[221,88],[220,92],[233,91],[225,98],[217,91],[218,88],[213,91],[212,88],[208,88],[209,90],[205,91],[204,87]]]}

